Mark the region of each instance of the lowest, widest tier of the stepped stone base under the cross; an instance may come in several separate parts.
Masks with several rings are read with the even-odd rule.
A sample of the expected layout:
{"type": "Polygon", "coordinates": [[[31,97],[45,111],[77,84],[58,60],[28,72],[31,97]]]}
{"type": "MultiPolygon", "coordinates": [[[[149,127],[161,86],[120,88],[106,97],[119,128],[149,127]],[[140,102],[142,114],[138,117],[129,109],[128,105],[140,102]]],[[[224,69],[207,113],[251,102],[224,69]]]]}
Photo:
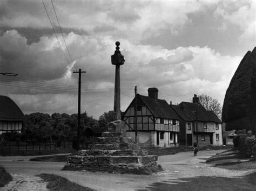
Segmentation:
{"type": "Polygon", "coordinates": [[[64,170],[103,171],[108,173],[152,174],[162,171],[157,155],[148,156],[81,156],[67,157],[64,170]]]}

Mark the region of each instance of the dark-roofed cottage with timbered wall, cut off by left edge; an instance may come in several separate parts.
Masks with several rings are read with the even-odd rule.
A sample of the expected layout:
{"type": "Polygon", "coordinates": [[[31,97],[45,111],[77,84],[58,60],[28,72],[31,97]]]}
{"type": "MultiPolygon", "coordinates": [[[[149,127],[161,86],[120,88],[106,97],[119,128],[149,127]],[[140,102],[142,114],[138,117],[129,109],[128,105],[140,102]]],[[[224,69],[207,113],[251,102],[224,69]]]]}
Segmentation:
{"type": "Polygon", "coordinates": [[[24,114],[10,97],[0,96],[0,135],[5,132],[21,133],[24,114]]]}

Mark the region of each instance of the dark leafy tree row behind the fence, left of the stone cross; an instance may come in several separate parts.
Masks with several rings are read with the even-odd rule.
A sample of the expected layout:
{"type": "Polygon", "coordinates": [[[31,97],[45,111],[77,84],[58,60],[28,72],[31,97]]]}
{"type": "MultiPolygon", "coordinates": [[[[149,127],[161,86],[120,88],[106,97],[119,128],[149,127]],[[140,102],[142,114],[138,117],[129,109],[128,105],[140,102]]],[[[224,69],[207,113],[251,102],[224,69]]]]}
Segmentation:
{"type": "MultiPolygon", "coordinates": [[[[87,116],[86,112],[81,114],[81,131],[86,128],[97,128],[98,120],[87,116]]],[[[15,142],[62,142],[63,140],[73,140],[77,136],[77,114],[43,114],[33,113],[25,115],[22,133],[8,132],[3,133],[5,140],[15,142]]],[[[0,139],[1,140],[1,139],[0,139]]]]}

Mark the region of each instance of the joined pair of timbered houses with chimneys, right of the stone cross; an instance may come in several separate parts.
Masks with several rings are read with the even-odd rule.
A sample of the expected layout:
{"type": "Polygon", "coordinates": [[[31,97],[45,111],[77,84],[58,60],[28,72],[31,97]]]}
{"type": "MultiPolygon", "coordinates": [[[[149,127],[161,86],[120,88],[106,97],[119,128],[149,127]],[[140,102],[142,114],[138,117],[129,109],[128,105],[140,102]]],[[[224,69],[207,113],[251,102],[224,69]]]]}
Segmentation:
{"type": "MultiPolygon", "coordinates": [[[[158,89],[149,88],[149,95],[137,94],[137,131],[140,146],[170,147],[223,145],[222,122],[213,111],[207,111],[194,95],[193,103],[170,105],[158,99],[158,89]]],[[[123,112],[127,136],[135,140],[135,97],[123,112]]]]}

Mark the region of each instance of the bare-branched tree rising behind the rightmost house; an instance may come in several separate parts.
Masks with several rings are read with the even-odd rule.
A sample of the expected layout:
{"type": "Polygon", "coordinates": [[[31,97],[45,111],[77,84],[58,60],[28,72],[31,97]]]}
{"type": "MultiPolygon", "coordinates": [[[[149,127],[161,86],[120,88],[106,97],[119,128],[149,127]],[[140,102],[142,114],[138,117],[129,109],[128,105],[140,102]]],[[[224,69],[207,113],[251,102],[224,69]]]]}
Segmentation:
{"type": "Polygon", "coordinates": [[[215,115],[221,119],[222,108],[218,100],[208,96],[207,94],[199,95],[199,102],[207,111],[213,111],[215,115]]]}

